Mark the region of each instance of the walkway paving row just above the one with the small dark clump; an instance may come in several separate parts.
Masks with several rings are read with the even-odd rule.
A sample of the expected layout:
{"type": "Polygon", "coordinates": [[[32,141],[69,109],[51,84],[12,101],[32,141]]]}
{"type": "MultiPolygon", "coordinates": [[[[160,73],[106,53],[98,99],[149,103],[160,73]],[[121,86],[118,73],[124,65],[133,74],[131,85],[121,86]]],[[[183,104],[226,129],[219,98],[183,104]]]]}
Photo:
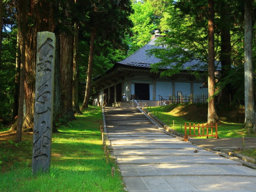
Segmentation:
{"type": "Polygon", "coordinates": [[[144,145],[111,145],[113,149],[200,149],[198,146],[191,144],[165,144],[165,145],[155,145],[155,144],[144,144],[144,145]]]}

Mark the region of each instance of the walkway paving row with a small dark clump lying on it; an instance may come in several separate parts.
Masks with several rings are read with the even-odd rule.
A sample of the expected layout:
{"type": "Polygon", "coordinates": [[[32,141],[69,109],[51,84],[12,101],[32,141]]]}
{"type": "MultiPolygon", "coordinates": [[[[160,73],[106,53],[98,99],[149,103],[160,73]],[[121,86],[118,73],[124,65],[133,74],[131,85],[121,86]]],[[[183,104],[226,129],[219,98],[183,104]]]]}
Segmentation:
{"type": "Polygon", "coordinates": [[[211,151],[206,151],[203,148],[197,148],[197,153],[195,153],[195,149],[119,149],[114,151],[115,156],[220,156],[211,151]]]}

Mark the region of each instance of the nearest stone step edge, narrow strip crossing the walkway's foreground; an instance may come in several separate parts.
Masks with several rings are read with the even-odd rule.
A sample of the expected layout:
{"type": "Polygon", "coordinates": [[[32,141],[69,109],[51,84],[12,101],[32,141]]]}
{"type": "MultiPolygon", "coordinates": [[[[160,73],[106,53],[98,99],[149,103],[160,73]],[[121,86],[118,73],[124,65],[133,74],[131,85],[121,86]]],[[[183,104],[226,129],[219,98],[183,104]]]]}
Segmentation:
{"type": "Polygon", "coordinates": [[[123,177],[182,177],[182,176],[233,176],[233,177],[256,177],[251,173],[122,173],[123,177]]]}

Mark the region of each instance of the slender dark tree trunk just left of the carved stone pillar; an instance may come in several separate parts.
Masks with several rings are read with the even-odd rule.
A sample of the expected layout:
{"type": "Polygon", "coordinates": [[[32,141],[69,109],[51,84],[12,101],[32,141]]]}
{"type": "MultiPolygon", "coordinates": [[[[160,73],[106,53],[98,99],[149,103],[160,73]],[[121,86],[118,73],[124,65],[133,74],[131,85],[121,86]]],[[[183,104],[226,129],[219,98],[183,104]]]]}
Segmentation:
{"type": "Polygon", "coordinates": [[[17,118],[16,143],[21,142],[21,131],[23,123],[23,104],[24,104],[24,82],[25,82],[25,50],[26,50],[26,2],[27,0],[20,0],[18,2],[20,16],[21,16],[21,46],[20,46],[20,96],[19,109],[17,118]]]}

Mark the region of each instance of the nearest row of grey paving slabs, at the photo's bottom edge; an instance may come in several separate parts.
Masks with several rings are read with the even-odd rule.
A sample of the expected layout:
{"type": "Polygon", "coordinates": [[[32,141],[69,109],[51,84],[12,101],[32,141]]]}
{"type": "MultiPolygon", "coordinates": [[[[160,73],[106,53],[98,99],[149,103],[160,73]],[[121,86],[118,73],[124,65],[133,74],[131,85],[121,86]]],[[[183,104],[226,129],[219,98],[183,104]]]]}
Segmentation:
{"type": "Polygon", "coordinates": [[[132,191],[256,191],[255,178],[234,176],[124,177],[132,191]]]}

